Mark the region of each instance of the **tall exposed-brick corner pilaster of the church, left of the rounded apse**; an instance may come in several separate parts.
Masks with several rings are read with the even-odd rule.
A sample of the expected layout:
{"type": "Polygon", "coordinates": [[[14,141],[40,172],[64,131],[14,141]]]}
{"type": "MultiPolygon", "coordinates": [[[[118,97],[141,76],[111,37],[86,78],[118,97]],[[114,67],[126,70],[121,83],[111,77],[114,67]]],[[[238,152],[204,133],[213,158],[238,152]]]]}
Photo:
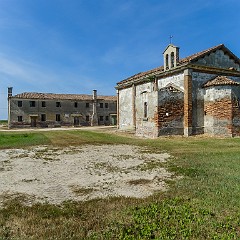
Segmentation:
{"type": "Polygon", "coordinates": [[[192,135],[192,70],[184,70],[184,136],[192,135]]]}

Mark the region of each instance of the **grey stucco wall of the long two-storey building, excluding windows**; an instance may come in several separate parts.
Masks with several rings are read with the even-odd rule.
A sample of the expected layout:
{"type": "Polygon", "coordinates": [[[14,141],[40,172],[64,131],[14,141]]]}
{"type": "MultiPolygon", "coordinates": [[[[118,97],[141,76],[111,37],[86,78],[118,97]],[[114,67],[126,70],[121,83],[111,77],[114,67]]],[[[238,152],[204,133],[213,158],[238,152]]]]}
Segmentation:
{"type": "MultiPolygon", "coordinates": [[[[110,114],[116,114],[116,108],[117,104],[114,101],[98,101],[98,124],[110,125],[110,114]],[[103,108],[100,108],[100,103],[103,103],[103,108]],[[105,107],[105,103],[108,103],[108,107],[105,107]]],[[[11,97],[9,99],[9,110],[9,127],[30,127],[32,117],[36,118],[37,127],[72,126],[74,125],[74,117],[78,118],[79,122],[77,125],[90,125],[93,103],[92,101],[39,100],[11,97]],[[18,101],[22,102],[21,107],[18,106],[18,101]],[[34,107],[30,107],[30,101],[35,102],[34,107]],[[45,107],[42,106],[42,102],[45,102],[45,107]],[[60,107],[56,106],[56,102],[60,102],[60,107]],[[89,103],[89,107],[86,107],[87,102],[89,103]],[[75,105],[75,103],[77,103],[77,105],[75,105]],[[41,120],[42,114],[46,116],[46,120],[44,121],[41,120]],[[56,114],[60,115],[60,121],[56,121],[56,114]],[[22,117],[22,121],[18,119],[20,116],[22,117]],[[87,121],[87,116],[89,117],[89,121],[87,121]]]]}

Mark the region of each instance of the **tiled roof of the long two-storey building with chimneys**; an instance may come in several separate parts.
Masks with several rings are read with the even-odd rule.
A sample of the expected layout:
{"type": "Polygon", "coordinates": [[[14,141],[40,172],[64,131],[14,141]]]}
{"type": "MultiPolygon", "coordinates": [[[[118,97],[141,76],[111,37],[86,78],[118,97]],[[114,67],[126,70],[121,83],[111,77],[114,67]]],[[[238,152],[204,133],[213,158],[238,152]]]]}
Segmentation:
{"type": "MultiPolygon", "coordinates": [[[[17,95],[12,96],[14,98],[21,99],[46,99],[46,100],[92,100],[92,95],[87,94],[57,94],[57,93],[36,93],[36,92],[24,92],[17,95]]],[[[116,96],[97,96],[98,100],[106,100],[106,101],[117,101],[116,96]]]]}

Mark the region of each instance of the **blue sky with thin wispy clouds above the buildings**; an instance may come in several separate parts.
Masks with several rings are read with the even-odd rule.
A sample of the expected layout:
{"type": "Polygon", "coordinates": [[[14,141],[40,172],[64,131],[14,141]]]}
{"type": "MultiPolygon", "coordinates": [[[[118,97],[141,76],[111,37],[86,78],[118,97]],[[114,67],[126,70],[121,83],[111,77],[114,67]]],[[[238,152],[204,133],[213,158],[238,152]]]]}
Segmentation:
{"type": "Polygon", "coordinates": [[[0,0],[0,119],[7,87],[115,95],[116,83],[225,44],[240,57],[239,0],[0,0]]]}

